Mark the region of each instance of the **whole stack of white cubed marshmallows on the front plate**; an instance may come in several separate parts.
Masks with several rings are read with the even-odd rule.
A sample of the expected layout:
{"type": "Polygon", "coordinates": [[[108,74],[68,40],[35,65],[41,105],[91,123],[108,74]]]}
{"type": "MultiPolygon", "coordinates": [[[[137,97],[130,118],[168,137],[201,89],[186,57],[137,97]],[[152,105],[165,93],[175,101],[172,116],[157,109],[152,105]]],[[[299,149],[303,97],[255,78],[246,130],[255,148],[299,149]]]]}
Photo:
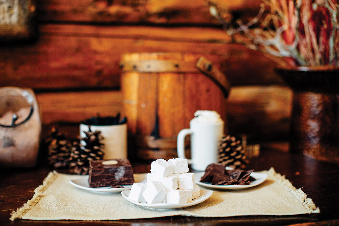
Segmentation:
{"type": "Polygon", "coordinates": [[[146,183],[134,183],[128,198],[140,203],[192,202],[200,196],[194,173],[188,172],[186,159],[158,159],[151,164],[151,173],[146,174],[146,183]]]}

